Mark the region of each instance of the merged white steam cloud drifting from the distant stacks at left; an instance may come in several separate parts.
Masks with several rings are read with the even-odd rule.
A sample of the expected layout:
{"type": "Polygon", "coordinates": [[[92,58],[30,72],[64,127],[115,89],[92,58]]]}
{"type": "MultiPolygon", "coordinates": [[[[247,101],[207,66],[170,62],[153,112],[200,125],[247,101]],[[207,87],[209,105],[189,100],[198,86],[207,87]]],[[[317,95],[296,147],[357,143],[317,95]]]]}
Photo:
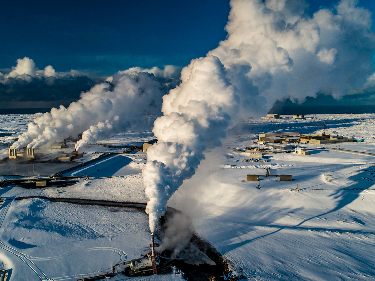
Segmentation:
{"type": "Polygon", "coordinates": [[[35,118],[11,148],[36,148],[83,132],[76,144],[79,149],[113,132],[142,126],[145,114],[160,115],[163,91],[153,76],[148,73],[117,75],[113,83],[114,87],[109,83],[95,85],[81,93],[81,99],[68,108],[52,108],[51,112],[35,118]]]}

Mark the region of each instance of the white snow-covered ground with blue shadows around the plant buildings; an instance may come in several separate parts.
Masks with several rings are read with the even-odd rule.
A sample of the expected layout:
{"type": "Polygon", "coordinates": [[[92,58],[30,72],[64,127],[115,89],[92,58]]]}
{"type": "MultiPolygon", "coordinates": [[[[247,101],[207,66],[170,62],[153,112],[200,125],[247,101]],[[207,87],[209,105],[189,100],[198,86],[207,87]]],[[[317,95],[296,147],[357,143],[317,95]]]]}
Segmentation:
{"type": "MultiPolygon", "coordinates": [[[[1,115],[0,130],[17,135],[33,117],[36,115],[1,115]]],[[[314,117],[240,123],[229,130],[222,148],[206,153],[196,174],[169,200],[168,205],[189,215],[195,232],[249,280],[374,280],[375,155],[327,147],[375,153],[375,114],[314,117]],[[266,163],[243,162],[248,153],[226,148],[251,146],[258,133],[322,133],[324,122],[326,133],[365,142],[301,144],[320,149],[306,156],[267,154],[266,163]],[[308,126],[318,123],[322,125],[308,126]],[[289,174],[293,180],[261,177],[260,189],[258,182],[246,181],[247,174],[265,175],[267,167],[272,175],[289,174]]],[[[16,137],[5,136],[0,142],[9,143],[16,137]]],[[[132,132],[100,143],[115,146],[150,139],[150,132],[132,132]]],[[[5,158],[6,144],[0,149],[5,158]]],[[[43,158],[53,158],[62,150],[46,149],[49,156],[43,158]]],[[[81,151],[86,154],[80,162],[123,150],[89,145],[81,151]]],[[[67,187],[0,189],[0,196],[9,199],[0,205],[0,269],[12,269],[10,280],[77,280],[84,274],[110,271],[115,263],[147,251],[150,237],[147,215],[142,211],[42,198],[11,200],[44,196],[147,202],[141,176],[146,156],[116,154],[105,159],[69,172],[90,174],[93,179],[80,179],[67,187]]],[[[36,165],[41,164],[45,163],[36,165]]],[[[0,171],[0,175],[9,174],[2,166],[0,171]]],[[[35,173],[43,174],[50,171],[35,173]]],[[[111,280],[182,278],[180,274],[117,275],[111,280]]]]}

